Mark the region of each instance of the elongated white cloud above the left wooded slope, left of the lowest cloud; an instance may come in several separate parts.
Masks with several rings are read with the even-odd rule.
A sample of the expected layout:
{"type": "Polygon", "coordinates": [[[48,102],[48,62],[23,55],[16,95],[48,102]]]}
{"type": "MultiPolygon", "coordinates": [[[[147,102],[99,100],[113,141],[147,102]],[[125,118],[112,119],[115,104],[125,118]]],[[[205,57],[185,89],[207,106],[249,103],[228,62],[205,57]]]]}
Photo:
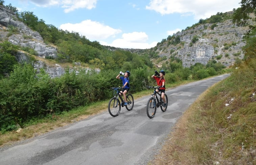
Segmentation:
{"type": "Polygon", "coordinates": [[[68,30],[69,32],[78,32],[80,35],[84,35],[91,41],[115,37],[116,34],[122,32],[120,29],[114,29],[91,20],[85,20],[77,24],[62,24],[60,29],[68,30]]]}

